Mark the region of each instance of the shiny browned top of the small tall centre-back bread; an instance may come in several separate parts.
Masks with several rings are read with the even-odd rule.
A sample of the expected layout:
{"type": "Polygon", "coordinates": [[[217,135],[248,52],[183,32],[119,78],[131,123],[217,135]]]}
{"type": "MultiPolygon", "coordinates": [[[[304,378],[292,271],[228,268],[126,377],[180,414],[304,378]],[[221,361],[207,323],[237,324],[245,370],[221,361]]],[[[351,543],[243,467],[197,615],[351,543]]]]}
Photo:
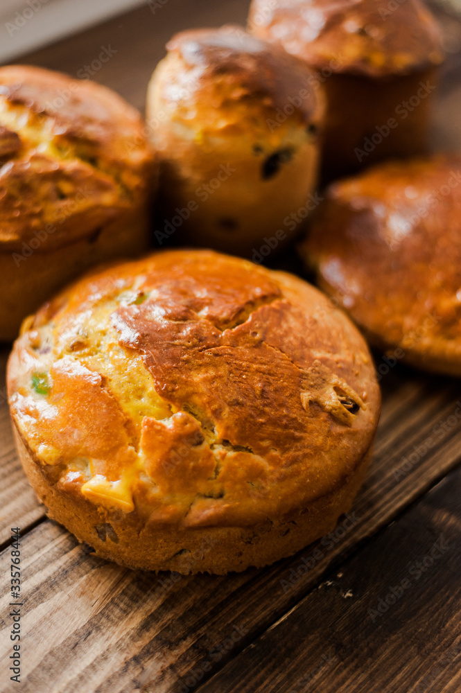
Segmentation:
{"type": "Polygon", "coordinates": [[[150,85],[148,109],[153,116],[162,113],[164,121],[193,128],[199,143],[207,135],[249,131],[268,137],[268,120],[279,111],[286,114],[287,126],[303,130],[322,117],[308,67],[239,26],[184,31],[166,48],[150,85]]]}

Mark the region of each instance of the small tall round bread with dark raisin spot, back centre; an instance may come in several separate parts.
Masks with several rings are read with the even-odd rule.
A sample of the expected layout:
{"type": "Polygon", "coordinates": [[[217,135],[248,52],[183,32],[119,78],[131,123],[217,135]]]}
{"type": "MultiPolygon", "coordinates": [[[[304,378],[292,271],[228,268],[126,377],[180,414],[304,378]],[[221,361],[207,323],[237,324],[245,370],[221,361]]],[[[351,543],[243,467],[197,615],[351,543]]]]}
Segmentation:
{"type": "Polygon", "coordinates": [[[175,234],[261,262],[315,206],[313,73],[238,26],[185,31],[167,49],[147,98],[161,159],[157,242],[175,234]]]}

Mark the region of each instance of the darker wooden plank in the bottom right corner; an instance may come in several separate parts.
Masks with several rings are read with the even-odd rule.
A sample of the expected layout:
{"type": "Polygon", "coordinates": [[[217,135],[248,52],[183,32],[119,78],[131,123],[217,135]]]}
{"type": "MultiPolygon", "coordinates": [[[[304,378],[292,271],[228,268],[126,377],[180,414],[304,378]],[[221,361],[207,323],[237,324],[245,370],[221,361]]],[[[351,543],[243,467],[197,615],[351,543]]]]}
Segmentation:
{"type": "Polygon", "coordinates": [[[460,498],[457,471],[198,692],[461,690],[460,498]]]}

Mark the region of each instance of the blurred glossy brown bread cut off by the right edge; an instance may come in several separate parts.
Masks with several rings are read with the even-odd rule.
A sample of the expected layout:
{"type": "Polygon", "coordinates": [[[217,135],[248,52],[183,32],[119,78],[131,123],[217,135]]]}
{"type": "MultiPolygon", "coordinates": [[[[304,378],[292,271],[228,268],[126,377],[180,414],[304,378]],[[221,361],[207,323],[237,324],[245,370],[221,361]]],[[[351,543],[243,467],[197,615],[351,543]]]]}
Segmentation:
{"type": "Polygon", "coordinates": [[[333,184],[302,255],[393,364],[461,376],[461,157],[333,184]]]}

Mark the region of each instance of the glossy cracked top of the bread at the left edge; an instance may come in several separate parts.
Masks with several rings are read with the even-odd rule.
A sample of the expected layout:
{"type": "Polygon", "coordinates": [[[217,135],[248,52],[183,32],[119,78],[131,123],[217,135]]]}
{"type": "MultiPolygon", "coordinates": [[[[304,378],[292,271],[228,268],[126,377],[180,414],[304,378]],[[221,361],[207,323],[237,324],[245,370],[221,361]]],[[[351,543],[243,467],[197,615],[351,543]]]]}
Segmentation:
{"type": "Polygon", "coordinates": [[[0,249],[37,252],[94,234],[152,184],[136,109],[106,87],[0,68],[0,249]],[[37,243],[35,243],[37,245],[37,243]]]}

